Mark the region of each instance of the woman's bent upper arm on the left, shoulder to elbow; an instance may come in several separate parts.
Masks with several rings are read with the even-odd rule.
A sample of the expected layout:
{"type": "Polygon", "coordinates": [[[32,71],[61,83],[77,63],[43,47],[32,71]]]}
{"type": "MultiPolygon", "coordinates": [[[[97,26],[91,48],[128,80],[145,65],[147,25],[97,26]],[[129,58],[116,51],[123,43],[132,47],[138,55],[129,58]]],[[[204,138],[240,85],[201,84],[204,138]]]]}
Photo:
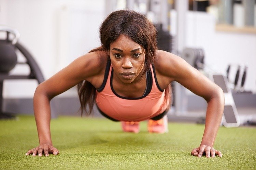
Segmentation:
{"type": "Polygon", "coordinates": [[[99,52],[91,52],[74,60],[51,78],[37,87],[37,91],[43,92],[50,99],[65,92],[83,80],[90,80],[102,71],[103,60],[100,60],[99,52]]]}

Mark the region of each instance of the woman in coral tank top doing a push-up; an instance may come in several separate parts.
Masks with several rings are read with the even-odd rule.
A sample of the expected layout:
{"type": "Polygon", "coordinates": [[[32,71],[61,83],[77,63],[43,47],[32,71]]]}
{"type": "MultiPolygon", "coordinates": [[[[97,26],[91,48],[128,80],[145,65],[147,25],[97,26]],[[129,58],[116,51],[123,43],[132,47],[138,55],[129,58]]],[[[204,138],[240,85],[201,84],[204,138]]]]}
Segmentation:
{"type": "Polygon", "coordinates": [[[170,83],[176,81],[208,103],[203,138],[191,155],[222,156],[213,148],[224,109],[220,87],[181,57],[157,50],[154,25],[137,12],[111,13],[101,24],[100,40],[100,47],[77,58],[37,87],[33,102],[39,146],[26,155],[59,153],[51,139],[50,101],[75,85],[82,112],[87,112],[88,107],[87,113],[91,113],[96,103],[105,117],[121,121],[125,132],[138,133],[139,122],[148,120],[150,133],[165,133],[170,83]]]}

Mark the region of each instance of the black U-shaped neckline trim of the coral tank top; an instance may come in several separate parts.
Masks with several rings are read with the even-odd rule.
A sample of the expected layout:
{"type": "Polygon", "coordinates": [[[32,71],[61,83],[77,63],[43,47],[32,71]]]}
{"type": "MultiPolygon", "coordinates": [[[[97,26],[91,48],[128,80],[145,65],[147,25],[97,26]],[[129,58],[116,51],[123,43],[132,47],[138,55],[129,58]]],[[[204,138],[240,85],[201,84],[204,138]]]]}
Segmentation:
{"type": "Polygon", "coordinates": [[[143,96],[137,97],[137,98],[123,97],[123,96],[118,95],[118,94],[115,92],[115,90],[114,90],[114,88],[113,88],[113,85],[112,85],[113,71],[114,71],[114,70],[113,70],[113,68],[112,68],[112,70],[111,70],[111,76],[110,76],[110,87],[111,87],[112,92],[113,92],[117,97],[122,98],[122,99],[128,99],[128,100],[138,100],[138,99],[142,99],[142,98],[146,97],[148,94],[150,94],[151,89],[152,89],[152,84],[153,84],[153,78],[152,78],[152,76],[151,76],[151,75],[152,75],[151,69],[150,69],[149,71],[146,71],[146,76],[147,76],[147,79],[146,79],[146,80],[147,80],[146,90],[145,90],[143,96]]]}

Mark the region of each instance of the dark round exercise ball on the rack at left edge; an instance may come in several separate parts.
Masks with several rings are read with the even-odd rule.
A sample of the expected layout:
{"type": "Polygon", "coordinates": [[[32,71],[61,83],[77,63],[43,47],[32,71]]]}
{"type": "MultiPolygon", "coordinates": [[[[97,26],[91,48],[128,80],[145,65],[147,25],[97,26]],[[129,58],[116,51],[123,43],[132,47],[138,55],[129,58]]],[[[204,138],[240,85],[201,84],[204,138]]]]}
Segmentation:
{"type": "Polygon", "coordinates": [[[8,73],[17,64],[15,47],[10,41],[0,41],[0,73],[8,73]]]}

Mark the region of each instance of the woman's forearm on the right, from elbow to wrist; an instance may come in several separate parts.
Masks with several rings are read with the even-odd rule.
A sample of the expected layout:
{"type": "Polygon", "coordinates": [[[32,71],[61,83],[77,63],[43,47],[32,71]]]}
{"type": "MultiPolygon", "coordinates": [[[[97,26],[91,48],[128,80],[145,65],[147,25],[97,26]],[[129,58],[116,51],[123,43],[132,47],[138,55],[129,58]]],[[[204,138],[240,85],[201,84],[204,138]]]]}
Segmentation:
{"type": "Polygon", "coordinates": [[[224,94],[222,90],[216,92],[215,97],[208,101],[205,128],[201,145],[207,145],[213,147],[219,125],[222,120],[224,109],[224,94]]]}

